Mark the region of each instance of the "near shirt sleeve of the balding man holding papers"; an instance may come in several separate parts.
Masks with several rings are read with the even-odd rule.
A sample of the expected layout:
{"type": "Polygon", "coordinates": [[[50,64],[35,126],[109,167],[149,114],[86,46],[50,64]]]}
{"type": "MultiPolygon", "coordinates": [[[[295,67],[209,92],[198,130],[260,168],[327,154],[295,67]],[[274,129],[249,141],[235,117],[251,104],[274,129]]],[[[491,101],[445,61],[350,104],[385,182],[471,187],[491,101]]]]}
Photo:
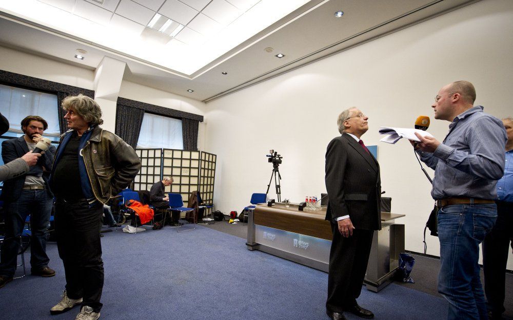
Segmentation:
{"type": "Polygon", "coordinates": [[[498,180],[502,177],[504,170],[504,150],[507,140],[505,130],[489,117],[482,117],[476,122],[476,130],[468,130],[465,136],[460,137],[460,140],[464,140],[467,144],[466,148],[441,143],[433,156],[469,175],[498,180]]]}

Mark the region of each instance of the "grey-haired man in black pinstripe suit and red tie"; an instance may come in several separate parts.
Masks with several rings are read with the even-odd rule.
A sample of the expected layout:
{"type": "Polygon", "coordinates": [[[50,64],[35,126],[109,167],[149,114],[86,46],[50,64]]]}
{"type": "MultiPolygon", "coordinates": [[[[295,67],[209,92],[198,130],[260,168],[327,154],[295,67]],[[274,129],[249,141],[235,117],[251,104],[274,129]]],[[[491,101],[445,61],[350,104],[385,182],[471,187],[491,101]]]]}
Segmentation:
{"type": "Polygon", "coordinates": [[[369,129],[368,119],[357,108],[343,111],[337,120],[342,136],[332,139],[326,151],[326,220],[333,231],[326,313],[333,320],[345,319],[344,311],[374,317],[356,301],[367,270],[372,234],[381,229],[380,167],[360,139],[369,129]]]}

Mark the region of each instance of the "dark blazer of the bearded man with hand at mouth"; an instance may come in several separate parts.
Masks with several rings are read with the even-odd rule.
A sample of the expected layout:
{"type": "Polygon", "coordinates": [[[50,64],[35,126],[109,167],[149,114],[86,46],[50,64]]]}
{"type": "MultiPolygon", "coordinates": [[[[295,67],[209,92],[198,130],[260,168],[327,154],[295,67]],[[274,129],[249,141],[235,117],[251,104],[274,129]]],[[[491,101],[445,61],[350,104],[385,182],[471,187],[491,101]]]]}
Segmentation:
{"type": "MultiPolygon", "coordinates": [[[[53,198],[53,194],[48,187],[48,177],[50,176],[50,171],[52,169],[55,150],[55,146],[50,145],[45,154],[37,160],[36,165],[30,167],[27,174],[5,181],[0,199],[6,202],[14,202],[18,200],[19,194],[25,184],[25,176],[41,175],[41,173],[43,173],[43,166],[47,169],[47,172],[43,173],[46,190],[48,196],[53,198]]],[[[2,159],[4,160],[4,163],[9,163],[19,157],[23,157],[27,152],[29,152],[29,148],[23,136],[2,142],[2,159]]]]}

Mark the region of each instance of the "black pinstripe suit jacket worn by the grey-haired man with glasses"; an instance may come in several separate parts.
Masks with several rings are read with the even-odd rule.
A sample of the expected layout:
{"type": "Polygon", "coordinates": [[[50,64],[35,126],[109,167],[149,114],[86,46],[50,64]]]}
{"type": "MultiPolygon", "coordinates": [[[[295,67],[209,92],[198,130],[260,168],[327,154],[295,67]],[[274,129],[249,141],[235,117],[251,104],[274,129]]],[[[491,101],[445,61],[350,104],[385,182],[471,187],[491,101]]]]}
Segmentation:
{"type": "Polygon", "coordinates": [[[376,158],[344,133],[326,150],[326,220],[349,215],[357,229],[381,229],[381,179],[376,158]]]}

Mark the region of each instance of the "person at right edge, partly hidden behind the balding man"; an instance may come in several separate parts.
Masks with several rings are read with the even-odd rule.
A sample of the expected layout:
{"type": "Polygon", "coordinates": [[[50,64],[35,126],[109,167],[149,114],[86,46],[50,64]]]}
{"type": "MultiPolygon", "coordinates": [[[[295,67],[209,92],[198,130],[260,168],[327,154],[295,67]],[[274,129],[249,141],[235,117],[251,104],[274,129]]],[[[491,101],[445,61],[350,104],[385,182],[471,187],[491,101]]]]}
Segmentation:
{"type": "Polygon", "coordinates": [[[506,265],[513,240],[513,118],[504,118],[502,123],[508,142],[504,176],[497,181],[497,222],[483,242],[484,292],[492,320],[501,319],[506,310],[506,265]]]}

